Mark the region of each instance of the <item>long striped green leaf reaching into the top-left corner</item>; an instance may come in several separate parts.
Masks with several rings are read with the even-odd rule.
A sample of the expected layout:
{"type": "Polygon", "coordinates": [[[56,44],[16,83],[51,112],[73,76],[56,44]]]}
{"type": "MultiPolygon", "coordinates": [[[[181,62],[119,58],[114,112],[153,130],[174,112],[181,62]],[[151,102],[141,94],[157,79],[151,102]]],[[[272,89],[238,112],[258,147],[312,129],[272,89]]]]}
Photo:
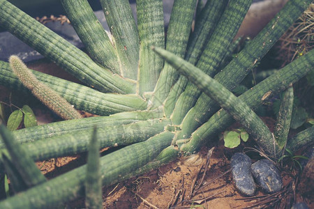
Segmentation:
{"type": "Polygon", "coordinates": [[[4,8],[0,13],[1,27],[26,42],[47,59],[57,63],[84,84],[103,92],[135,93],[134,81],[113,75],[110,70],[100,67],[87,54],[8,1],[1,0],[0,8],[4,8]]]}

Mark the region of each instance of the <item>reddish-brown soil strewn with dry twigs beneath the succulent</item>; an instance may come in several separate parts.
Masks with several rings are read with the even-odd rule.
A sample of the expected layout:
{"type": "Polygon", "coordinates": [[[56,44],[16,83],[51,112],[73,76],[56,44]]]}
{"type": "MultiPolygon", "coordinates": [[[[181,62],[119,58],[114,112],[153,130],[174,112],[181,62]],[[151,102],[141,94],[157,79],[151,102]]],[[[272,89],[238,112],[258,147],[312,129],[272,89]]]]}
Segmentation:
{"type": "MultiPolygon", "coordinates": [[[[272,203],[277,203],[277,208],[290,208],[290,203],[295,201],[305,201],[309,208],[314,207],[311,196],[302,198],[295,185],[292,186],[296,176],[293,169],[282,171],[285,187],[275,196],[265,196],[261,189],[258,189],[253,198],[245,199],[232,183],[229,159],[242,148],[227,149],[220,141],[209,158],[208,148],[204,147],[197,155],[181,157],[142,176],[104,187],[103,208],[273,208],[272,203]],[[202,185],[208,185],[197,192],[207,159],[209,166],[202,185]],[[283,205],[278,206],[281,200],[283,205]]],[[[257,157],[256,153],[250,156],[253,159],[257,157]]],[[[57,160],[38,162],[38,167],[41,167],[47,178],[54,178],[84,164],[85,158],[86,155],[61,157],[57,160]]],[[[84,208],[84,199],[68,203],[68,207],[84,208]]]]}

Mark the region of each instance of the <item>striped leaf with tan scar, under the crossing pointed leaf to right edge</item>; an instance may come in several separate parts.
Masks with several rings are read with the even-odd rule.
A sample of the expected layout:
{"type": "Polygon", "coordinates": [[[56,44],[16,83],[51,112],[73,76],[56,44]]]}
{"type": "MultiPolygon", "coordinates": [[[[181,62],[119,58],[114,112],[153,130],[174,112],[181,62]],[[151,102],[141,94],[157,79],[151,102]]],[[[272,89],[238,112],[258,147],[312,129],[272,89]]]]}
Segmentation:
{"type": "MultiPolygon", "coordinates": [[[[286,65],[285,68],[278,70],[274,75],[269,76],[267,79],[264,79],[264,81],[254,86],[254,88],[251,88],[240,95],[239,98],[246,102],[249,107],[257,109],[262,102],[271,98],[271,95],[283,91],[285,88],[288,88],[290,84],[293,84],[301,77],[304,77],[306,73],[313,68],[313,65],[314,50],[308,52],[305,56],[301,56],[289,65],[286,65]]],[[[200,150],[205,141],[208,139],[215,139],[217,134],[223,132],[232,123],[234,123],[232,117],[227,114],[224,109],[220,109],[214,116],[209,118],[209,121],[193,132],[190,139],[187,140],[188,142],[181,146],[181,150],[184,150],[186,153],[194,153],[195,151],[200,150]]],[[[185,136],[184,134],[186,134],[184,130],[179,133],[182,136],[185,136]]],[[[184,138],[186,137],[178,137],[177,139],[184,138]]],[[[292,144],[300,148],[296,141],[292,144]]]]}

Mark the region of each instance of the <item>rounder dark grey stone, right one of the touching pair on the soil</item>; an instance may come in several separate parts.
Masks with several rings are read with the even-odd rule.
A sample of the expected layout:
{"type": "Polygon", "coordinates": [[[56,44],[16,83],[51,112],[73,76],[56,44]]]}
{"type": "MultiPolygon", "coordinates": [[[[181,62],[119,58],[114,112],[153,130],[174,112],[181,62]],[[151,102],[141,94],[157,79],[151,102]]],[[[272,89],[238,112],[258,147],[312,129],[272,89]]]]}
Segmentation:
{"type": "Polygon", "coordinates": [[[265,192],[271,194],[280,191],[283,187],[281,173],[270,160],[264,159],[253,163],[251,171],[257,185],[260,185],[265,192]]]}

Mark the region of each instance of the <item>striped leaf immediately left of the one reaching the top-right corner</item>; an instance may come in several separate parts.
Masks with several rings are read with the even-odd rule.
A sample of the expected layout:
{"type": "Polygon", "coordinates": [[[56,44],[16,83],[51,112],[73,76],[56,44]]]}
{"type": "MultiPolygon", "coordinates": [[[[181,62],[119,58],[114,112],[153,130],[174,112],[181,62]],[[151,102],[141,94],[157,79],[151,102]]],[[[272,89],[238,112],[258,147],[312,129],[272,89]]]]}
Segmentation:
{"type": "MultiPolygon", "coordinates": [[[[217,27],[211,36],[207,46],[197,62],[197,68],[203,70],[207,75],[213,77],[218,72],[220,62],[223,61],[225,54],[236,35],[241,22],[251,6],[251,0],[233,0],[230,1],[220,18],[217,27]]],[[[195,61],[196,63],[196,61],[195,61]]],[[[172,120],[174,124],[181,124],[186,113],[197,101],[201,91],[191,83],[186,86],[184,93],[177,100],[172,120]]]]}

